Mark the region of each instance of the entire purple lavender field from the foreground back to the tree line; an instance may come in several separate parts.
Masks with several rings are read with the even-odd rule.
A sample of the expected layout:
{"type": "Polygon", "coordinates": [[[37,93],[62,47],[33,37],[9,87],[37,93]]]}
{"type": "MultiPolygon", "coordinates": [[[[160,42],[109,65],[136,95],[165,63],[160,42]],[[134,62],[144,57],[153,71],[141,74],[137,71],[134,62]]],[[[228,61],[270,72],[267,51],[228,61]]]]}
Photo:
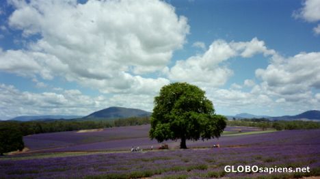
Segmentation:
{"type": "MultiPolygon", "coordinates": [[[[150,141],[146,137],[147,129],[148,126],[131,126],[107,128],[101,132],[92,133],[67,132],[28,136],[25,138],[39,139],[39,141],[45,139],[44,146],[50,146],[49,141],[59,141],[61,143],[57,142],[57,144],[61,148],[47,148],[42,152],[2,157],[0,158],[0,178],[299,178],[320,176],[320,130],[283,130],[245,135],[244,131],[252,133],[257,128],[242,128],[244,131],[241,133],[243,134],[237,135],[237,132],[236,135],[220,137],[218,142],[221,148],[211,148],[213,143],[217,143],[217,140],[213,139],[189,141],[187,150],[175,149],[174,145],[178,145],[178,141],[169,141],[170,150],[128,152],[134,144],[142,144],[140,146],[146,149],[150,145],[159,145],[156,141],[150,141]],[[124,129],[128,130],[124,131],[124,129]],[[122,130],[122,134],[111,135],[116,133],[114,130],[122,130]],[[93,139],[93,136],[100,136],[98,138],[100,141],[93,139]],[[94,142],[90,143],[89,139],[93,139],[94,142]],[[64,146],[67,144],[74,146],[64,146]],[[123,150],[116,151],[117,148],[123,150]],[[310,167],[310,173],[227,173],[224,171],[226,165],[310,167]]],[[[238,129],[226,128],[230,134],[238,129]]],[[[38,147],[35,148],[40,148],[40,146],[38,143],[38,147]]]]}

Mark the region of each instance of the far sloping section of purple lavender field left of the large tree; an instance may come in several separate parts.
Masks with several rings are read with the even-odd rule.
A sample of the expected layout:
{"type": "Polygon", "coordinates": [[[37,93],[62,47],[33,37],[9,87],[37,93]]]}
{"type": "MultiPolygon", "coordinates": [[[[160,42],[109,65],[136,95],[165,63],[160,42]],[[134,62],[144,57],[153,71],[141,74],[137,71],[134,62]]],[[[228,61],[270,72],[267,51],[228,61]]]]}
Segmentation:
{"type": "MultiPolygon", "coordinates": [[[[148,130],[150,130],[150,125],[104,128],[102,131],[89,133],[78,133],[78,131],[42,133],[25,136],[23,137],[23,141],[25,141],[25,146],[31,151],[44,151],[55,148],[66,148],[67,150],[69,147],[77,148],[77,146],[81,147],[88,143],[100,142],[111,142],[110,147],[116,148],[114,141],[146,138],[148,137],[148,130]]],[[[94,150],[94,148],[90,148],[89,150],[94,150]]]]}

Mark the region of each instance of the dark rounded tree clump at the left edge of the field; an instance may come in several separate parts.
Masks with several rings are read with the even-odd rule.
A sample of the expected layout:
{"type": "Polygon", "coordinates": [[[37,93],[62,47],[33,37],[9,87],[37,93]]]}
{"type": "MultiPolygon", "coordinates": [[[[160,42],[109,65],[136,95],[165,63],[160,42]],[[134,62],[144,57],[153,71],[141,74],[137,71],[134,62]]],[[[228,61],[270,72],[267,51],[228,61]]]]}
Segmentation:
{"type": "Polygon", "coordinates": [[[23,135],[14,125],[0,123],[0,155],[14,150],[23,150],[23,135]]]}

